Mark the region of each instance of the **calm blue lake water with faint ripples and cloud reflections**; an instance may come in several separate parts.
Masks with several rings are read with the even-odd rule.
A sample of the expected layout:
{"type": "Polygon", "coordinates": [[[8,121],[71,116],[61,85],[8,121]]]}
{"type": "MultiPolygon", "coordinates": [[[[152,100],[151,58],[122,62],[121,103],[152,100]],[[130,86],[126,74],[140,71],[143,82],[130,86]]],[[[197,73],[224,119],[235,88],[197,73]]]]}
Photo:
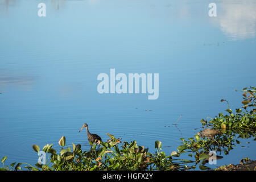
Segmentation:
{"type": "MultiPolygon", "coordinates": [[[[170,154],[202,118],[225,113],[222,98],[241,107],[240,90],[256,85],[256,2],[216,1],[210,17],[211,2],[0,0],[0,158],[35,164],[32,144],[60,149],[63,135],[88,150],[83,123],[151,152],[161,140],[170,154]],[[99,94],[110,68],[159,73],[159,98],[99,94]]],[[[241,142],[216,166],[255,159],[255,142],[241,142]]]]}

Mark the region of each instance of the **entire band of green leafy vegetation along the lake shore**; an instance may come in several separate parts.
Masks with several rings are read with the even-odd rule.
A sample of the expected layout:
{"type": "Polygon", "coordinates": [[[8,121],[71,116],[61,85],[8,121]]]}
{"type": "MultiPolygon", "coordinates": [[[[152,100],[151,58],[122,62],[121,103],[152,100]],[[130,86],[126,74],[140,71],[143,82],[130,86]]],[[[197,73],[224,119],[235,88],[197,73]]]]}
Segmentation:
{"type": "MultiPolygon", "coordinates": [[[[195,169],[199,166],[201,170],[255,170],[255,160],[251,161],[249,158],[241,160],[240,164],[234,166],[221,166],[218,168],[209,168],[205,166],[206,163],[212,162],[212,155],[210,151],[216,151],[216,159],[221,159],[223,156],[228,155],[229,151],[233,149],[236,144],[240,144],[239,140],[245,138],[255,138],[256,129],[256,89],[255,87],[244,88],[242,90],[243,100],[242,109],[232,111],[228,104],[226,113],[218,113],[214,118],[201,119],[202,130],[212,128],[221,131],[222,134],[216,137],[207,138],[195,135],[191,138],[180,138],[181,145],[177,147],[177,151],[172,151],[171,154],[165,154],[162,151],[162,142],[155,141],[155,153],[148,152],[148,148],[139,146],[136,140],[132,142],[122,142],[121,138],[115,138],[114,135],[108,134],[109,139],[107,142],[92,143],[90,151],[82,151],[80,144],[72,143],[72,148],[68,147],[65,142],[65,137],[61,137],[59,144],[62,147],[60,152],[52,148],[53,144],[47,144],[43,147],[43,151],[48,155],[46,164],[36,163],[32,166],[27,163],[11,163],[10,167],[5,165],[7,156],[3,157],[0,170],[22,170],[26,168],[32,171],[39,170],[79,170],[79,171],[92,171],[92,170],[189,170],[195,169]],[[209,120],[208,120],[209,119],[209,120]],[[100,145],[99,149],[97,146],[100,145]],[[186,155],[191,158],[182,159],[186,155]]],[[[35,152],[40,151],[38,145],[32,146],[35,152]]]]}

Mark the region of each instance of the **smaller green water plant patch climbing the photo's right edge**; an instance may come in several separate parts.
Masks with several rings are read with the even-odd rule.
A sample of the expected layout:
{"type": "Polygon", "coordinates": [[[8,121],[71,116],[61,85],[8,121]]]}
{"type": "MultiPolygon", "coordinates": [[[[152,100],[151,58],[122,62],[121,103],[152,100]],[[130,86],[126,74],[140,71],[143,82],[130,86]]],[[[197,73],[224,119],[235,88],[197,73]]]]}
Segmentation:
{"type": "MultiPolygon", "coordinates": [[[[185,151],[189,151],[189,156],[192,154],[195,156],[196,163],[203,159],[200,156],[205,156],[205,159],[209,158],[209,151],[224,151],[225,155],[229,154],[229,151],[233,149],[236,144],[241,142],[239,138],[245,139],[250,137],[255,137],[256,129],[256,110],[253,108],[248,110],[249,107],[255,107],[255,93],[256,90],[254,87],[244,88],[243,92],[243,101],[242,109],[236,109],[233,111],[230,109],[229,102],[226,100],[221,100],[221,102],[227,102],[228,109],[225,111],[228,114],[224,115],[219,113],[218,116],[214,118],[201,119],[202,128],[212,127],[213,129],[219,130],[222,132],[221,135],[217,135],[214,140],[208,138],[200,138],[199,135],[195,135],[192,138],[185,140],[181,138],[183,143],[180,148],[183,148],[185,151]]],[[[208,117],[209,118],[209,117],[208,117]]],[[[254,139],[255,140],[255,139],[254,139]]],[[[202,161],[202,164],[205,162],[202,161]]]]}

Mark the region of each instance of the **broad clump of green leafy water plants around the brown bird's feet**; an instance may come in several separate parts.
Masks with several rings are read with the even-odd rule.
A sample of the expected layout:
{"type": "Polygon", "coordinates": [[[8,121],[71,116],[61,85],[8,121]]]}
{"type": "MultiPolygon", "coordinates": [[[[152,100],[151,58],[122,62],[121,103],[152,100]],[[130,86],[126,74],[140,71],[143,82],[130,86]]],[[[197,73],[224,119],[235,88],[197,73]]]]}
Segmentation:
{"type": "MultiPolygon", "coordinates": [[[[4,165],[7,157],[2,159],[4,168],[1,170],[21,170],[21,164],[27,164],[24,166],[31,171],[66,171],[66,170],[177,170],[177,169],[189,169],[187,165],[188,160],[176,160],[172,159],[172,156],[177,154],[171,154],[166,156],[162,152],[162,142],[156,141],[155,154],[148,152],[148,148],[139,146],[134,140],[133,142],[121,142],[121,138],[114,138],[113,135],[108,134],[110,139],[108,142],[101,142],[101,148],[96,150],[97,143],[90,142],[92,146],[90,151],[81,150],[80,144],[73,144],[72,147],[68,147],[65,143],[65,137],[61,137],[59,140],[61,148],[60,152],[52,148],[52,144],[47,144],[43,147],[43,151],[48,154],[48,160],[46,164],[36,163],[35,167],[27,163],[19,163],[16,167],[11,164],[11,167],[4,165]]],[[[33,145],[32,148],[39,152],[40,148],[37,145],[33,145]]]]}

